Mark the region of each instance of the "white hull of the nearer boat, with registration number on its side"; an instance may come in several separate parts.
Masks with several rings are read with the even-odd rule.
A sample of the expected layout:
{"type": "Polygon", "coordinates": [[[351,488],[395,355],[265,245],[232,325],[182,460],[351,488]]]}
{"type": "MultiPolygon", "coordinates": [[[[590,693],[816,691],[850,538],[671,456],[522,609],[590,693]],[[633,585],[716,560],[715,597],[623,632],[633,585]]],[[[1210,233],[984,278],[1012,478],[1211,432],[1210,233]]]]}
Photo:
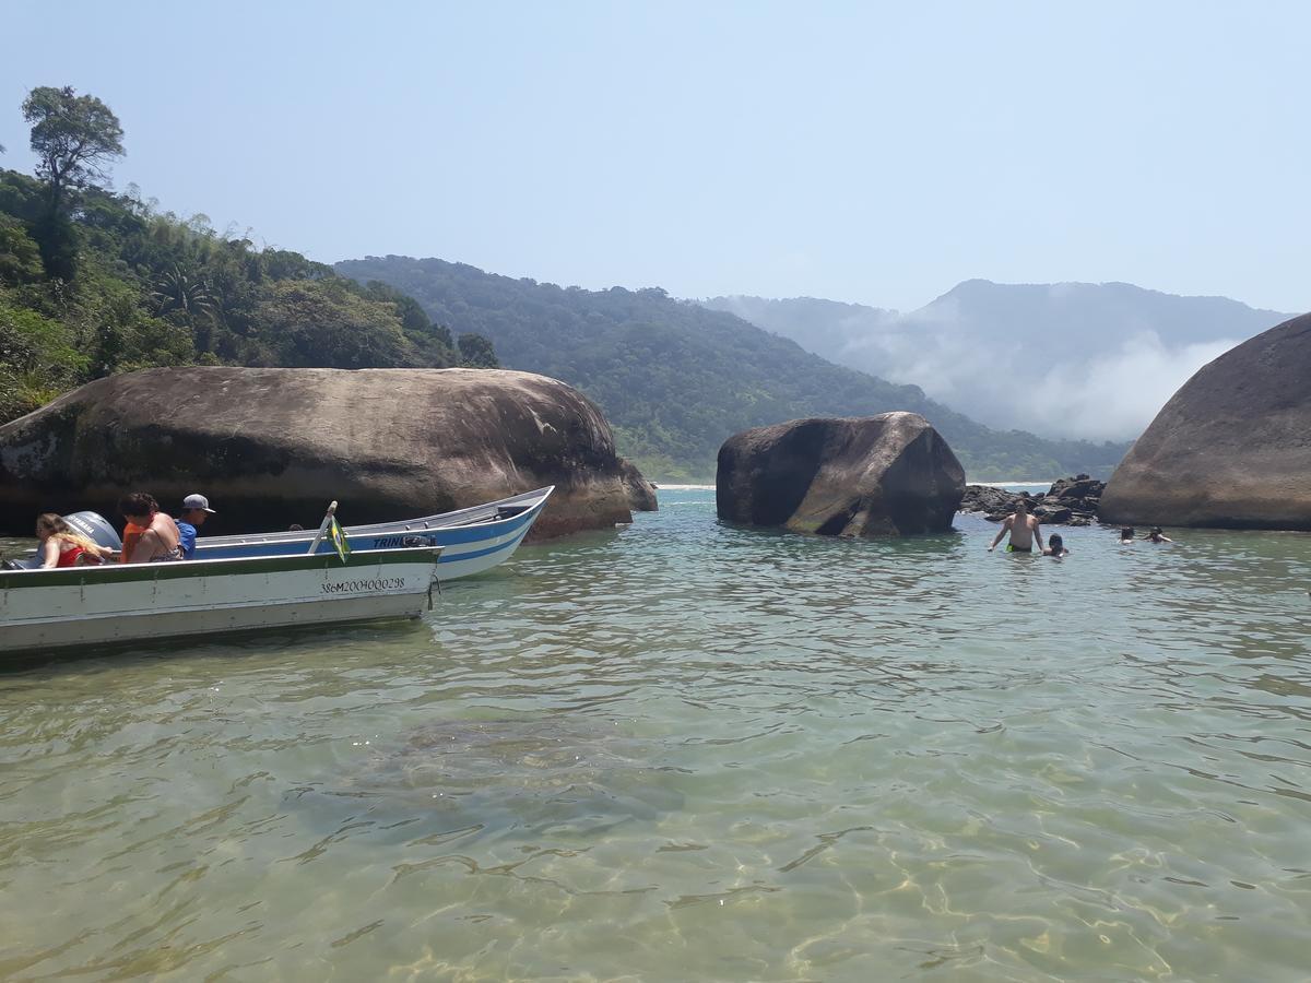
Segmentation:
{"type": "Polygon", "coordinates": [[[417,617],[439,549],[0,573],[0,653],[417,617]]]}

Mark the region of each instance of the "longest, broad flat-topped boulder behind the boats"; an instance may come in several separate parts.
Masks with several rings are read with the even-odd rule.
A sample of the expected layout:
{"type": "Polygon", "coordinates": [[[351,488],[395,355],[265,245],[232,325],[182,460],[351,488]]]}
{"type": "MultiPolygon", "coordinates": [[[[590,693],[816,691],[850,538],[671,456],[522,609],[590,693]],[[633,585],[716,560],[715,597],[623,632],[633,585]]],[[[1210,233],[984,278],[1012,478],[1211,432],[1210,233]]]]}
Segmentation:
{"type": "MultiPolygon", "coordinates": [[[[636,478],[635,478],[636,476],[636,478]]],[[[447,511],[556,485],[539,536],[631,522],[644,501],[610,426],[576,389],[498,370],[151,368],[89,383],[0,427],[0,527],[39,511],[118,519],[127,490],[206,532],[447,511]]]]}

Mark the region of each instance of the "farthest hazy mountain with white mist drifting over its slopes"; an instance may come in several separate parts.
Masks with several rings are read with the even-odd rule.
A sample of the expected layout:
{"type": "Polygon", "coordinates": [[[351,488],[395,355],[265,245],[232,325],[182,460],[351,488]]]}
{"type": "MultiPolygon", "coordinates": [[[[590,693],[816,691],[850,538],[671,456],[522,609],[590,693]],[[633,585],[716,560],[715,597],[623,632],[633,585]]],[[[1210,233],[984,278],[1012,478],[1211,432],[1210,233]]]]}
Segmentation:
{"type": "Polygon", "coordinates": [[[1198,368],[1291,315],[1130,283],[966,280],[909,313],[796,298],[700,301],[992,427],[1137,438],[1198,368]]]}

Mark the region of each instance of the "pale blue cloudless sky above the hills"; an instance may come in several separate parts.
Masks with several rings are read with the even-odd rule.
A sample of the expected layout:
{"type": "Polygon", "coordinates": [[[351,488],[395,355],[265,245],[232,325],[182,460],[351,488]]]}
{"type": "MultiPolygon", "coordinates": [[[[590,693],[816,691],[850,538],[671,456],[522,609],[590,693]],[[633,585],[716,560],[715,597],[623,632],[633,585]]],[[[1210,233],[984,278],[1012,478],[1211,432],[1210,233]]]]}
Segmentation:
{"type": "Polygon", "coordinates": [[[909,309],[961,279],[1311,307],[1303,3],[8,0],[115,186],[316,260],[909,309]]]}

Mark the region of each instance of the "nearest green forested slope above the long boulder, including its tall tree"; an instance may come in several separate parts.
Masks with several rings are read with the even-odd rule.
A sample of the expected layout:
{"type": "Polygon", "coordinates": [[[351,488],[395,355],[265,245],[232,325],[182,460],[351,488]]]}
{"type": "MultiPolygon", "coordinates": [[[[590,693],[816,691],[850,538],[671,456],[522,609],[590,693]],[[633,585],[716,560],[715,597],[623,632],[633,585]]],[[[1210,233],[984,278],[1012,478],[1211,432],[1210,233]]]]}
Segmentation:
{"type": "Polygon", "coordinates": [[[152,366],[497,366],[395,287],[109,190],[123,130],[98,98],[37,88],[22,111],[39,164],[0,169],[0,423],[152,366]]]}

